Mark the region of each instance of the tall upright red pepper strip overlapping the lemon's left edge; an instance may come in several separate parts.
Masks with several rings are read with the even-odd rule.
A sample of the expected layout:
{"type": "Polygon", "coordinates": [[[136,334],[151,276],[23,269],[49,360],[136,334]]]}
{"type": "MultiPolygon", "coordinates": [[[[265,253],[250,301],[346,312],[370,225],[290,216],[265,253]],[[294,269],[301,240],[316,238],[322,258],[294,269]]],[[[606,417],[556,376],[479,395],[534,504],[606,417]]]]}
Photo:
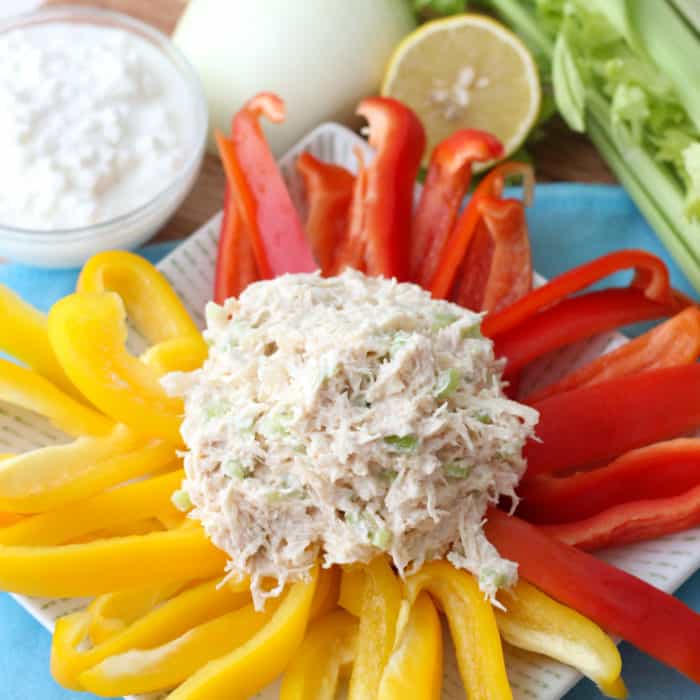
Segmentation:
{"type": "Polygon", "coordinates": [[[357,113],[369,122],[369,143],[376,155],[368,166],[360,164],[348,245],[337,266],[356,267],[364,247],[368,274],[406,281],[413,186],[425,150],[425,132],[418,117],[390,97],[365,99],[357,113]]]}

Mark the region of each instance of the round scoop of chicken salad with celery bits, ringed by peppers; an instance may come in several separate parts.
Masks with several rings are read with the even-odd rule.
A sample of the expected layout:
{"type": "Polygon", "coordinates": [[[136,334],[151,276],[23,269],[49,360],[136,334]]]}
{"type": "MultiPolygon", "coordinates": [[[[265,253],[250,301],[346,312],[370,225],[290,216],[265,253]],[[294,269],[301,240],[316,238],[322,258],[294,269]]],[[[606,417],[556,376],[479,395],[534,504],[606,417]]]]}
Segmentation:
{"type": "Polygon", "coordinates": [[[446,557],[491,597],[514,581],[482,520],[516,499],[537,413],[504,396],[479,314],[347,271],[258,282],[206,315],[207,361],[163,382],[185,399],[191,515],[256,606],[318,558],[385,552],[405,574],[446,557]]]}

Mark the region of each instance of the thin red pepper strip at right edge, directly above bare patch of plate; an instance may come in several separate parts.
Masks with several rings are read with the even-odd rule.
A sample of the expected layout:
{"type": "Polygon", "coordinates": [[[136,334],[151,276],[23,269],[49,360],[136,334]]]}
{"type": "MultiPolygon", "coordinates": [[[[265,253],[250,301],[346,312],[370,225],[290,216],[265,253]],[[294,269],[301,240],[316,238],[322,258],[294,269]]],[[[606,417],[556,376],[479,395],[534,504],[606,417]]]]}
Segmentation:
{"type": "Polygon", "coordinates": [[[700,486],[678,496],[631,501],[585,520],[540,528],[561,542],[588,552],[645,542],[700,524],[700,486]]]}

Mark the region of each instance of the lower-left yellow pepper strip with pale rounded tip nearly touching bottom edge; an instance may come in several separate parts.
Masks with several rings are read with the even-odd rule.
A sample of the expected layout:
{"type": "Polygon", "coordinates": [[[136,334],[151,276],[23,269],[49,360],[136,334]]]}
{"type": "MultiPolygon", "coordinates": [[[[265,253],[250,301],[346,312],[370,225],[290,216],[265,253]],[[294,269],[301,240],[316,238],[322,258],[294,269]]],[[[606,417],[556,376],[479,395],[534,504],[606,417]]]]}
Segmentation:
{"type": "Polygon", "coordinates": [[[205,622],[154,649],[110,656],[80,675],[85,690],[105,697],[137,695],[179,685],[210,661],[229,654],[257,634],[279,605],[268,600],[256,612],[252,604],[205,622]]]}

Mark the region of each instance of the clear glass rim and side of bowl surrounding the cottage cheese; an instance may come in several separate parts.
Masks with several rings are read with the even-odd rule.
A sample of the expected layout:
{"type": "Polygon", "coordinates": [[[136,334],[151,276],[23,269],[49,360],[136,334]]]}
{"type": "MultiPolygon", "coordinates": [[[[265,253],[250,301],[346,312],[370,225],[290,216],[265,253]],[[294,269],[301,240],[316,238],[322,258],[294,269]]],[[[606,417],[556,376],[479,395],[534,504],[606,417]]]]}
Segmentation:
{"type": "MultiPolygon", "coordinates": [[[[40,267],[76,267],[109,249],[135,248],[152,238],[192,189],[204,157],[209,113],[199,77],[180,50],[162,32],[127,15],[64,5],[0,21],[0,34],[53,22],[94,24],[122,29],[147,41],[167,58],[183,82],[191,114],[184,165],[146,203],[111,220],[72,229],[31,230],[0,221],[0,256],[40,267]]],[[[1,166],[0,166],[1,167],[1,166]]]]}

